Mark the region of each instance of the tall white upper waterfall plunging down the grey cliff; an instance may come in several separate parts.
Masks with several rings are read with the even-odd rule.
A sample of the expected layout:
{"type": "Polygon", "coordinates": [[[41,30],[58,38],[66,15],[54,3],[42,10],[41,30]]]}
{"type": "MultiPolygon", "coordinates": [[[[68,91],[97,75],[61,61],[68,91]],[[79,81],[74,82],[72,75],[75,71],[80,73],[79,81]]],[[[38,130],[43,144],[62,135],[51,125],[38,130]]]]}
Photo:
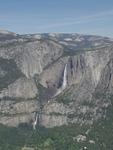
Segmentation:
{"type": "Polygon", "coordinates": [[[67,86],[67,64],[65,65],[64,68],[62,86],[58,89],[55,96],[59,95],[66,88],[66,86],[67,86]]]}

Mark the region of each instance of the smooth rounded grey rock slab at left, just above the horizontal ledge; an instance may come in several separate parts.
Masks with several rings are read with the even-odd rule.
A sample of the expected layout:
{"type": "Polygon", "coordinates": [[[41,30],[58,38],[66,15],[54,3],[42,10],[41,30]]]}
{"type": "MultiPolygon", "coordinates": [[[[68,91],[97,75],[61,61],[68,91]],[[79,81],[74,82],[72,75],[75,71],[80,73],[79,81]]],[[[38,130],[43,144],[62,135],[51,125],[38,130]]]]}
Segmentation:
{"type": "Polygon", "coordinates": [[[36,84],[33,79],[19,78],[14,83],[10,84],[6,89],[1,91],[0,98],[23,98],[32,99],[38,93],[36,84]]]}

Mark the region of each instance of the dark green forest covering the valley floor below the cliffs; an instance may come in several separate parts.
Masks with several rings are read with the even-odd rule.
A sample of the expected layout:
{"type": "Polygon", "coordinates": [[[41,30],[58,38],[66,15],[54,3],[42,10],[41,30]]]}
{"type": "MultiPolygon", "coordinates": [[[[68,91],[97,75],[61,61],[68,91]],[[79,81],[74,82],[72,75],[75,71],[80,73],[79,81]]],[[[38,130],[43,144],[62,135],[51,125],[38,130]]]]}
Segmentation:
{"type": "Polygon", "coordinates": [[[0,126],[0,150],[21,150],[31,147],[35,150],[111,150],[113,147],[113,107],[107,111],[107,118],[91,126],[70,124],[68,126],[32,130],[28,125],[18,128],[0,126]],[[85,141],[77,142],[76,137],[83,135],[85,141]],[[94,143],[90,143],[93,141],[94,143]]]}

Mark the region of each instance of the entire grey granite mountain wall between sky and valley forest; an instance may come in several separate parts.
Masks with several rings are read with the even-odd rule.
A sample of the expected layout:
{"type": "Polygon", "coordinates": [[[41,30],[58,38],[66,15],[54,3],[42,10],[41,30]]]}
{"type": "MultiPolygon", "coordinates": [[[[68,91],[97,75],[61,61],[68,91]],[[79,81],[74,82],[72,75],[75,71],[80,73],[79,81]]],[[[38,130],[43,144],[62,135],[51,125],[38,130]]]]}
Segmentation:
{"type": "Polygon", "coordinates": [[[78,34],[0,31],[0,123],[54,127],[105,117],[113,41],[78,34]]]}

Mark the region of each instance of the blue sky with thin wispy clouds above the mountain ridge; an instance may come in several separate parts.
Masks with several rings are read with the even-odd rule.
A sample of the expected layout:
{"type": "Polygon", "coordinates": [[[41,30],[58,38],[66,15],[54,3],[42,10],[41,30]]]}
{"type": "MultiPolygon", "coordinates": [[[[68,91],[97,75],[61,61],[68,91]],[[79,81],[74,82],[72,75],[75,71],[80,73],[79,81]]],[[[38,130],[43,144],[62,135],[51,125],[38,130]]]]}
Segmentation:
{"type": "Polygon", "coordinates": [[[0,29],[113,38],[113,0],[0,0],[0,29]]]}

